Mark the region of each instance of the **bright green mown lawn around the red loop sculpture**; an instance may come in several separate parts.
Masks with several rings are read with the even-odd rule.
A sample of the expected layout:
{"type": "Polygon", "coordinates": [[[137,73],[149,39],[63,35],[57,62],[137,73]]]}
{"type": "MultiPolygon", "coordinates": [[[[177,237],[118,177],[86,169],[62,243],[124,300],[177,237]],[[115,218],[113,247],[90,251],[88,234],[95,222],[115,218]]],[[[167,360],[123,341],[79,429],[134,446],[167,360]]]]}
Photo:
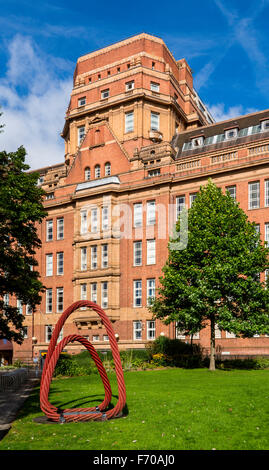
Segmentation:
{"type": "MultiPolygon", "coordinates": [[[[115,403],[115,375],[109,378],[115,403]]],[[[36,389],[0,450],[269,449],[269,370],[137,371],[126,372],[125,381],[127,415],[106,422],[35,423],[42,415],[36,389]]],[[[102,399],[95,374],[51,385],[51,403],[63,408],[102,399]]]]}

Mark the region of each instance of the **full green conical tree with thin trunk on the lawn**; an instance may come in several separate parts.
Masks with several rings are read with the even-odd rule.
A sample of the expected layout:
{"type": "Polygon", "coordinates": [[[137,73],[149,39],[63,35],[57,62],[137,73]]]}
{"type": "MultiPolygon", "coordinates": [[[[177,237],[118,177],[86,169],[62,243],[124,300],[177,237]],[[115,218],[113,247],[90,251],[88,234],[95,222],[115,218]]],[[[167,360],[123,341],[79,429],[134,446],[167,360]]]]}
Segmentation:
{"type": "Polygon", "coordinates": [[[269,267],[269,249],[238,203],[210,180],[188,211],[187,247],[172,249],[175,242],[151,309],[190,335],[209,324],[214,370],[215,327],[238,337],[269,333],[269,289],[259,275],[269,267]]]}

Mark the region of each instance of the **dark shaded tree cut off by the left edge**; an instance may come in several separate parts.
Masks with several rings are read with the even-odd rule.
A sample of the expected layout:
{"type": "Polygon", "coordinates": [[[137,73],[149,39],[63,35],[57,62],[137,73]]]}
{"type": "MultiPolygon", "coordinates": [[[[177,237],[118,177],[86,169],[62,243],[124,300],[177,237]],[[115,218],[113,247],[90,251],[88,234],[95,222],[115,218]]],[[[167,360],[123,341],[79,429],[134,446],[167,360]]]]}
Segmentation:
{"type": "Polygon", "coordinates": [[[33,310],[43,289],[35,250],[41,242],[37,224],[46,215],[44,191],[37,186],[39,174],[29,173],[25,149],[0,152],[0,337],[19,344],[23,341],[23,316],[7,301],[15,296],[33,310]]]}

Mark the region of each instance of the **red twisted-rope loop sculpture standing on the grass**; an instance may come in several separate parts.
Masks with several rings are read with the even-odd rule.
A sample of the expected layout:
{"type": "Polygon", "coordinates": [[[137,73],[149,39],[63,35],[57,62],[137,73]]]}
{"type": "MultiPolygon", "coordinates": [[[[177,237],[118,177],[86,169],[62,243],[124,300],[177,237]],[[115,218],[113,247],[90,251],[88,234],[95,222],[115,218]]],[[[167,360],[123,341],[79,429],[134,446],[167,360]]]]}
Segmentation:
{"type": "Polygon", "coordinates": [[[56,422],[70,422],[70,421],[89,421],[89,420],[107,420],[111,418],[117,417],[120,412],[122,411],[126,402],[126,389],[123,377],[123,370],[120,360],[120,354],[118,349],[118,344],[115,338],[115,334],[112,328],[112,325],[105,314],[104,310],[96,305],[93,302],[88,300],[80,300],[78,302],[73,303],[68,307],[64,313],[59,318],[48,348],[45,364],[43,367],[42,377],[41,377],[41,386],[40,386],[40,407],[42,411],[46,414],[49,420],[56,421],[56,422]],[[106,328],[111,351],[115,363],[115,372],[117,377],[117,384],[118,384],[118,402],[116,406],[110,410],[106,411],[107,406],[110,403],[112,392],[110,383],[106,374],[106,371],[103,367],[102,361],[99,358],[97,351],[93,347],[93,345],[83,338],[80,335],[69,335],[66,336],[62,341],[57,344],[57,339],[59,337],[60,331],[66,321],[66,319],[71,315],[74,310],[80,307],[89,307],[94,310],[100,316],[103,325],[106,328]],[[89,351],[90,355],[92,356],[96,367],[99,371],[100,377],[102,379],[104,389],[105,389],[105,398],[103,402],[95,407],[91,408],[67,408],[67,409],[60,409],[53,406],[49,400],[49,389],[50,383],[52,380],[53,371],[55,369],[56,363],[60,356],[61,351],[66,346],[67,343],[71,343],[74,341],[79,341],[85,348],[89,351]]]}

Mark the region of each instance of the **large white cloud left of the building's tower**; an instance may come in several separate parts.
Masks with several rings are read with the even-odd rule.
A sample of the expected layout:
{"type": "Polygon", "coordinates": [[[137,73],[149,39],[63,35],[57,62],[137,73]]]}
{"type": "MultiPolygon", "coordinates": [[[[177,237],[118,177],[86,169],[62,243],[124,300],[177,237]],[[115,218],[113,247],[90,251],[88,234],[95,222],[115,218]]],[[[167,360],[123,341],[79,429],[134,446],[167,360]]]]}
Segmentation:
{"type": "Polygon", "coordinates": [[[59,75],[70,64],[45,55],[30,38],[21,35],[14,37],[8,52],[6,76],[0,79],[1,121],[5,124],[0,146],[11,152],[23,145],[32,169],[60,163],[64,160],[60,132],[72,90],[72,72],[68,78],[59,75]]]}

